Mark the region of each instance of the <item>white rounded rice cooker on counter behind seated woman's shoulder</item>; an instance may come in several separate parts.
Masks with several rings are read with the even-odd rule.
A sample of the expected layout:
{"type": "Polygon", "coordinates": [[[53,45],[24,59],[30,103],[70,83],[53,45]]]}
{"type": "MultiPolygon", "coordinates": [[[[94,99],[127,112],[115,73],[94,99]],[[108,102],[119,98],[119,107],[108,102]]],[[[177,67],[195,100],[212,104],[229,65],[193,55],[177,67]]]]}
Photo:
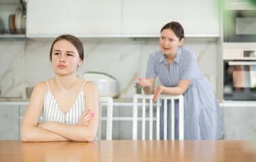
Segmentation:
{"type": "Polygon", "coordinates": [[[119,96],[119,82],[108,74],[85,72],[81,78],[95,82],[98,85],[100,97],[117,98],[119,96]]]}

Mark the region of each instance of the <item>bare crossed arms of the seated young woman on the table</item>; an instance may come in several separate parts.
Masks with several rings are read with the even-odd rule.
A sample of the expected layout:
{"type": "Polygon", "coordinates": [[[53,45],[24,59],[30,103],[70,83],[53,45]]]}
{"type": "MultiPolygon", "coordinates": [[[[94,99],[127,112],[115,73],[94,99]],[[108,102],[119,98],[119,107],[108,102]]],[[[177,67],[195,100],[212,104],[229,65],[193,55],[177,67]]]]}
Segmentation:
{"type": "Polygon", "coordinates": [[[81,116],[77,125],[69,125],[54,121],[39,123],[41,112],[43,111],[45,89],[47,88],[45,88],[42,82],[37,84],[33,90],[28,109],[22,121],[20,131],[22,141],[93,141],[97,135],[100,119],[98,86],[92,82],[88,82],[85,84],[85,87],[87,89],[87,93],[85,93],[86,111],[81,116]]]}

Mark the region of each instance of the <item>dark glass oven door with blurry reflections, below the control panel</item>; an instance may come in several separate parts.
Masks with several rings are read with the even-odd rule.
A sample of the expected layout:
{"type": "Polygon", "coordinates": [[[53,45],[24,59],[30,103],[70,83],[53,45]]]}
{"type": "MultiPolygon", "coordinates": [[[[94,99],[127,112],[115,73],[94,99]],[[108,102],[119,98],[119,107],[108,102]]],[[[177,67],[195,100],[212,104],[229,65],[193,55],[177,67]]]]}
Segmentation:
{"type": "Polygon", "coordinates": [[[223,99],[256,101],[256,60],[224,61],[223,99]]]}

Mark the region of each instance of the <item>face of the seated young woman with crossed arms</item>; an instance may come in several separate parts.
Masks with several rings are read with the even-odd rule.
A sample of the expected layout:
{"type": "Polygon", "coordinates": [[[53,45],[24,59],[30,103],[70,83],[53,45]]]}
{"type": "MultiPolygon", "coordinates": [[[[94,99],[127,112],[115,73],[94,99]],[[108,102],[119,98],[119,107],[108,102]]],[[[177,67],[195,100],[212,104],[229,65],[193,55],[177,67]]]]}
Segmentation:
{"type": "Polygon", "coordinates": [[[82,64],[79,52],[66,40],[60,40],[54,44],[51,60],[54,71],[60,76],[76,73],[77,66],[82,64]]]}

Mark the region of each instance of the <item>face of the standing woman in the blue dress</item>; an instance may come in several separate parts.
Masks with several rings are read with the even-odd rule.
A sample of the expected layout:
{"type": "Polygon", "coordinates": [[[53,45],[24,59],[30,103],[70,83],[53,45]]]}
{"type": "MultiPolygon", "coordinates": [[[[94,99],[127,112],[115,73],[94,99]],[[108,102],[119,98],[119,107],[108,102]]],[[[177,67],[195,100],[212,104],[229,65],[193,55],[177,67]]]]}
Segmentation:
{"type": "Polygon", "coordinates": [[[171,29],[164,29],[161,32],[159,44],[163,54],[165,55],[176,55],[177,48],[182,45],[184,38],[179,40],[176,34],[171,29]]]}

